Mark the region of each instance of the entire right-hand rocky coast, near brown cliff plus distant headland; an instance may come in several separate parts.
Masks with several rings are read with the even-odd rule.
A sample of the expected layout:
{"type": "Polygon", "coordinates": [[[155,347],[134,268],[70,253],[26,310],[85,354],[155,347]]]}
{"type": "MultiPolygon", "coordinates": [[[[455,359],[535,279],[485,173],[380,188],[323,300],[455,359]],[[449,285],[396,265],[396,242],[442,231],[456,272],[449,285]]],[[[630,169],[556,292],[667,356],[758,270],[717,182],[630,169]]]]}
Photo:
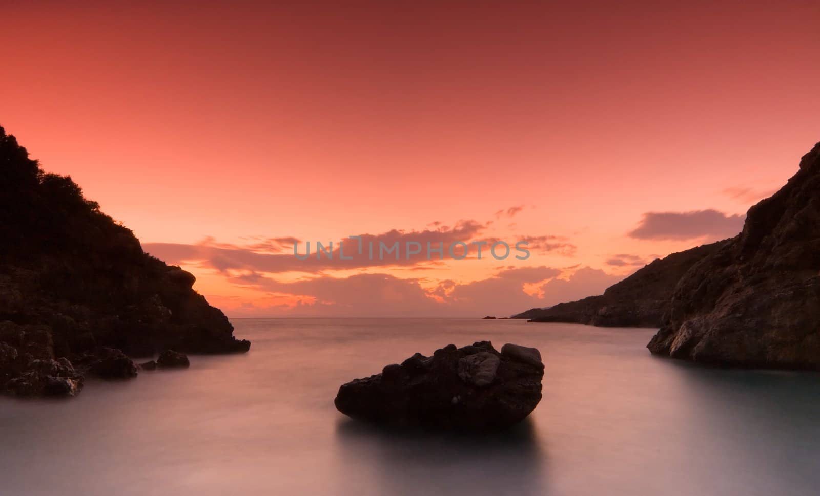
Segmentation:
{"type": "Polygon", "coordinates": [[[659,327],[657,355],[820,370],[820,143],[736,237],[655,260],[604,295],[513,318],[659,327]]]}

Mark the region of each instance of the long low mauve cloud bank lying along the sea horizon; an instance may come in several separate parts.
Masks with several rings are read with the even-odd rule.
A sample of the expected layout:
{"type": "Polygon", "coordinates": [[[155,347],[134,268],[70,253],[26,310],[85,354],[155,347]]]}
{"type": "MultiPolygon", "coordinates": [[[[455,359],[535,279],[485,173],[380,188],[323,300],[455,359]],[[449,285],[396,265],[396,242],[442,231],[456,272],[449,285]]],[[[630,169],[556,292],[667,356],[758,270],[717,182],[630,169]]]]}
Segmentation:
{"type": "Polygon", "coordinates": [[[561,269],[504,267],[493,277],[459,283],[440,281],[435,286],[422,278],[356,274],[349,277],[318,276],[299,281],[278,281],[260,274],[227,276],[228,282],[262,291],[268,304],[227,302],[231,315],[300,315],[325,317],[470,317],[507,316],[533,307],[597,295],[622,277],[593,268],[580,268],[566,279],[561,269]],[[544,282],[532,288],[533,283],[544,282]],[[526,286],[530,290],[525,291],[526,286]],[[535,291],[533,291],[535,290],[535,291]],[[289,301],[289,304],[281,304],[289,301]]]}

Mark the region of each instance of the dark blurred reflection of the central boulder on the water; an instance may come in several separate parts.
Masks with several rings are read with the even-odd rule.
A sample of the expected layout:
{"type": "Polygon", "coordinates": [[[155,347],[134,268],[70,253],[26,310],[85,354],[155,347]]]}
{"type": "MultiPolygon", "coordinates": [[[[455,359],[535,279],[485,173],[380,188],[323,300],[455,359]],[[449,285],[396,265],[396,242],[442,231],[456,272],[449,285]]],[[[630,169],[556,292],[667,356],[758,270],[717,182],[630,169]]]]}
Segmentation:
{"type": "Polygon", "coordinates": [[[547,462],[532,419],[493,435],[430,434],[340,418],[339,458],[367,467],[376,494],[546,494],[547,462]]]}

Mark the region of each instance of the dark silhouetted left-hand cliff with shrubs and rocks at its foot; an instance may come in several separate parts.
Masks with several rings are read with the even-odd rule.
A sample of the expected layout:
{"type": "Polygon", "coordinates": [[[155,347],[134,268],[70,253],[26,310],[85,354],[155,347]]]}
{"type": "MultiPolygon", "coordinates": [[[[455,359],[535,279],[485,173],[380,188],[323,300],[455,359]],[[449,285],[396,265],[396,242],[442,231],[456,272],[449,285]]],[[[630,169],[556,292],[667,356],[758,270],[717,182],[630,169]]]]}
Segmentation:
{"type": "Polygon", "coordinates": [[[0,391],[62,390],[103,349],[247,351],[193,285],[0,128],[0,391]]]}

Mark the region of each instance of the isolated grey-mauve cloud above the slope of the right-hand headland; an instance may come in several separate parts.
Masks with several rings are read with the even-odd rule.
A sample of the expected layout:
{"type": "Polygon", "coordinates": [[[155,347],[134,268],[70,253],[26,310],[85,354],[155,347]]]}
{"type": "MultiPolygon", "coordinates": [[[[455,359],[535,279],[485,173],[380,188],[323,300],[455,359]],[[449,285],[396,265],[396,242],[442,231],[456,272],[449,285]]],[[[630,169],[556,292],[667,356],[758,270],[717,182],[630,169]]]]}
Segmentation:
{"type": "Polygon", "coordinates": [[[649,212],[644,214],[630,237],[642,240],[690,240],[699,237],[724,239],[743,228],[745,215],[727,215],[717,210],[649,212]]]}

